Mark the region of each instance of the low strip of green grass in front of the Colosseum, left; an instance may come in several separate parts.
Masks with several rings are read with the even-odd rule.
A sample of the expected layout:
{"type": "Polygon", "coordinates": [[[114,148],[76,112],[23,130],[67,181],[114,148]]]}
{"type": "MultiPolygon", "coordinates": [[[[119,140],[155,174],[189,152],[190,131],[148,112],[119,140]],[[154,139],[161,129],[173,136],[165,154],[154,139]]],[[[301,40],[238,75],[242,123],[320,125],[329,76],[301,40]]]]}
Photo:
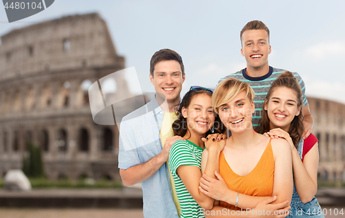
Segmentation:
{"type": "MultiPolygon", "coordinates": [[[[32,188],[122,188],[119,181],[99,180],[94,183],[80,179],[48,180],[44,178],[29,178],[32,188]]],[[[3,179],[0,179],[0,188],[3,188],[3,179]]]]}

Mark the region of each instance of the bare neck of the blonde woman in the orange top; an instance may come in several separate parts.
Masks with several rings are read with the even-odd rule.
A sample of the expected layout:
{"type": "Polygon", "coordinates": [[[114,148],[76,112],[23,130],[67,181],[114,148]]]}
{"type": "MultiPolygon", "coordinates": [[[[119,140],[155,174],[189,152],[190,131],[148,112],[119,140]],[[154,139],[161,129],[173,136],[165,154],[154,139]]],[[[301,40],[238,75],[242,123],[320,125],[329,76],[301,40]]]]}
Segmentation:
{"type": "Polygon", "coordinates": [[[233,132],[233,135],[229,138],[230,145],[233,147],[240,147],[240,148],[249,148],[255,145],[255,139],[257,137],[257,133],[250,128],[243,132],[233,132]]]}

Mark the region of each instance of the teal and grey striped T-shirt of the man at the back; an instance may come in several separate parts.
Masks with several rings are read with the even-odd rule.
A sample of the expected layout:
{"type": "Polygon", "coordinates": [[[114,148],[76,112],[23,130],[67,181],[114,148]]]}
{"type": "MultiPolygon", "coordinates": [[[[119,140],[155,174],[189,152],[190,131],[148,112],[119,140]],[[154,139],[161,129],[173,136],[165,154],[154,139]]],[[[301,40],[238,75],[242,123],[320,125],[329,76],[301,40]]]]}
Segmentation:
{"type": "MultiPolygon", "coordinates": [[[[235,78],[239,81],[245,81],[249,83],[249,86],[253,88],[255,92],[255,98],[253,100],[255,104],[255,113],[253,114],[253,128],[254,130],[257,130],[257,127],[259,126],[259,121],[262,117],[262,106],[264,105],[267,92],[270,89],[270,84],[272,84],[272,82],[275,81],[275,79],[277,79],[285,71],[286,70],[277,69],[270,66],[268,74],[262,77],[249,77],[248,75],[246,75],[246,68],[244,68],[243,70],[239,70],[238,72],[235,72],[232,75],[228,75],[220,79],[218,83],[228,78],[235,78]]],[[[295,76],[297,82],[302,88],[302,99],[304,107],[308,104],[308,101],[306,99],[306,86],[304,85],[302,77],[300,77],[297,72],[293,72],[293,75],[295,76]]]]}

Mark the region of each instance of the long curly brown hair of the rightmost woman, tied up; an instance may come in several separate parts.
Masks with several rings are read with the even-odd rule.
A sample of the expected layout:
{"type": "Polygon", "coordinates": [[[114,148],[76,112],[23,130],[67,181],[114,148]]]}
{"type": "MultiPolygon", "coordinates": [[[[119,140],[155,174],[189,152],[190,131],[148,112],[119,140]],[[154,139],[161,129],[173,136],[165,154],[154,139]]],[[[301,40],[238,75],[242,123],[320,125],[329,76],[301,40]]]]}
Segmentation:
{"type": "Polygon", "coordinates": [[[270,130],[270,119],[268,118],[267,110],[264,109],[265,105],[268,103],[272,92],[275,88],[279,87],[286,87],[290,88],[291,90],[295,91],[297,95],[297,107],[301,108],[298,116],[293,118],[290,124],[290,130],[288,130],[288,134],[290,134],[291,139],[293,139],[293,144],[297,148],[299,140],[302,138],[303,134],[303,115],[302,115],[302,90],[301,86],[297,82],[297,79],[293,76],[292,72],[286,71],[282,75],[280,75],[273,83],[270,85],[270,90],[268,90],[266,99],[264,102],[264,106],[262,107],[262,119],[260,121],[259,126],[259,133],[268,132],[270,130]]]}

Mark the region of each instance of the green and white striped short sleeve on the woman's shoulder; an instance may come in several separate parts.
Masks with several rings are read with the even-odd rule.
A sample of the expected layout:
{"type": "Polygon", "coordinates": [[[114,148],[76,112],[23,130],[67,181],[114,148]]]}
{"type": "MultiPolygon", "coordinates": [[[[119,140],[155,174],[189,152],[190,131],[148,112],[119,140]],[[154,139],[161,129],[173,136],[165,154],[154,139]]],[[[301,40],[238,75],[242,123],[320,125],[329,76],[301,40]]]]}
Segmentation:
{"type": "Polygon", "coordinates": [[[168,164],[172,175],[177,175],[177,168],[181,165],[197,166],[200,168],[192,148],[184,140],[177,140],[172,144],[168,164]]]}

